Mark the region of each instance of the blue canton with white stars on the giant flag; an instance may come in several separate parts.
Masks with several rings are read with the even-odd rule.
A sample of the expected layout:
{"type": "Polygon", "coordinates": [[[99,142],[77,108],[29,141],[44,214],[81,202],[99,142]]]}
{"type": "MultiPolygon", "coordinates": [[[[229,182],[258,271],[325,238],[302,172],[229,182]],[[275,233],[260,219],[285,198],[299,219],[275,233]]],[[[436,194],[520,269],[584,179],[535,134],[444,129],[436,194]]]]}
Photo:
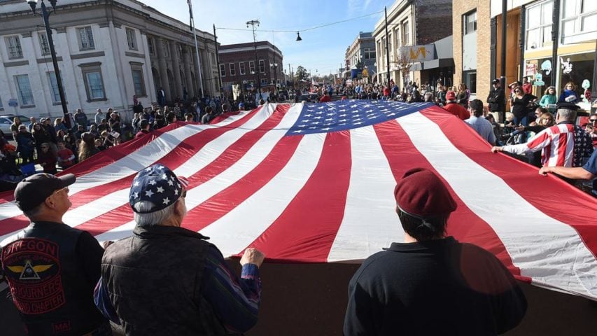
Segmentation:
{"type": "Polygon", "coordinates": [[[407,104],[371,100],[304,104],[299,118],[287,135],[351,130],[407,116],[432,105],[433,103],[407,104]]]}

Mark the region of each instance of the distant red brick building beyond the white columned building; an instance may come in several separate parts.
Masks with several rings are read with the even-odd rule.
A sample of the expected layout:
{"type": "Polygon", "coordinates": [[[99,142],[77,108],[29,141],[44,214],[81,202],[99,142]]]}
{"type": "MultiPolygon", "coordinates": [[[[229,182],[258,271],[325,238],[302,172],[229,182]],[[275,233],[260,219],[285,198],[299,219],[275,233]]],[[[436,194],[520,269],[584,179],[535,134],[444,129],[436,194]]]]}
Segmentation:
{"type": "Polygon", "coordinates": [[[232,92],[232,85],[241,90],[257,90],[260,85],[262,92],[274,90],[274,83],[286,85],[282,52],[268,41],[221,45],[218,55],[224,92],[232,92]]]}

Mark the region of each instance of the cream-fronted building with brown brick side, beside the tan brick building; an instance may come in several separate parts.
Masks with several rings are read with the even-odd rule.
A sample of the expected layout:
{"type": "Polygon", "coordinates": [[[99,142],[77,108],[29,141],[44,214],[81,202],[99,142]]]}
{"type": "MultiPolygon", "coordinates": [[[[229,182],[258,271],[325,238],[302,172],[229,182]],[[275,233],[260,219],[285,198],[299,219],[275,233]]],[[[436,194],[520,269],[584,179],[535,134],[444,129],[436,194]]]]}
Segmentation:
{"type": "MultiPolygon", "coordinates": [[[[407,45],[429,45],[452,34],[452,1],[451,0],[398,0],[388,8],[388,52],[390,56],[389,76],[397,83],[414,80],[424,83],[433,77],[433,73],[421,64],[419,68],[411,67],[402,73],[398,62],[401,57],[400,48],[407,45]]],[[[386,21],[384,15],[375,25],[373,31],[377,55],[377,80],[387,83],[388,62],[386,55],[386,21]]],[[[434,55],[437,59],[437,55],[434,55]]],[[[449,68],[449,64],[442,63],[449,68]]],[[[429,64],[429,66],[431,66],[429,64]]],[[[440,62],[437,62],[440,66],[440,62]]],[[[447,71],[447,70],[446,70],[447,71]]],[[[438,70],[439,74],[440,71],[438,70]]]]}

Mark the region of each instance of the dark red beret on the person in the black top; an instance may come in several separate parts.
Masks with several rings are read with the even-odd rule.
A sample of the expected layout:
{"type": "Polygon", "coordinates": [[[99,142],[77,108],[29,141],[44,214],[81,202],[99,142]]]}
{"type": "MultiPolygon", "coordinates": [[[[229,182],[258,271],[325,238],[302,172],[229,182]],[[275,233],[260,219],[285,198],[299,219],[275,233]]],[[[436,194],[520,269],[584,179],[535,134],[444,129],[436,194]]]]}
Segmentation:
{"type": "Polygon", "coordinates": [[[396,204],[409,215],[434,217],[456,210],[456,202],[437,175],[428,169],[406,172],[394,189],[396,204]]]}

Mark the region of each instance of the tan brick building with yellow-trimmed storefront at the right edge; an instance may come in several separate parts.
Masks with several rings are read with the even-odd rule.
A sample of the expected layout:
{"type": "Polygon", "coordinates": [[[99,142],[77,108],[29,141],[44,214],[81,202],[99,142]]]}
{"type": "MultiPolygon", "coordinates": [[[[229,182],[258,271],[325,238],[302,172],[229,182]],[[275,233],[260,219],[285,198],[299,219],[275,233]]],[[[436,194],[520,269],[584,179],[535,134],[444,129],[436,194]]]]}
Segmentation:
{"type": "MultiPolygon", "coordinates": [[[[454,0],[453,8],[454,82],[467,84],[472,97],[485,101],[491,80],[503,75],[502,1],[454,0]]],[[[549,85],[559,94],[572,81],[581,97],[587,80],[595,97],[597,25],[591,20],[597,1],[521,0],[507,2],[506,10],[506,83],[527,77],[541,97],[549,85]]],[[[579,105],[591,109],[588,101],[579,105]]]]}

